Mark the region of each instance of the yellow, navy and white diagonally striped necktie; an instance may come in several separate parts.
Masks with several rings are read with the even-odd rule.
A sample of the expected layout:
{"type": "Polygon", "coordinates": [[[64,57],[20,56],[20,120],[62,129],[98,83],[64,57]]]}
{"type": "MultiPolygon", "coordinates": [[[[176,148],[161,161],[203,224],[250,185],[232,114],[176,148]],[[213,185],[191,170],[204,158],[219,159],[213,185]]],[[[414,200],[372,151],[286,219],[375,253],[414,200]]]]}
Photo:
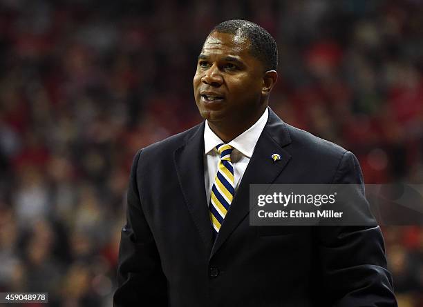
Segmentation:
{"type": "Polygon", "coordinates": [[[221,143],[216,146],[216,149],[220,154],[220,161],[212,186],[209,204],[210,218],[212,219],[215,238],[235,195],[234,166],[232,166],[231,161],[233,148],[221,143]]]}

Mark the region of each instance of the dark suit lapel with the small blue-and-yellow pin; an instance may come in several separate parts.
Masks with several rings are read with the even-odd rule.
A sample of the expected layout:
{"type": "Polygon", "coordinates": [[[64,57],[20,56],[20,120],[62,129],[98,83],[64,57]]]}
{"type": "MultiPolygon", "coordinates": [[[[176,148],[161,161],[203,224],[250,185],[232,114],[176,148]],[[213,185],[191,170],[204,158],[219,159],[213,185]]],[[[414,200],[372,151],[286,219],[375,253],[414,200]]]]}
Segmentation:
{"type": "Polygon", "coordinates": [[[290,142],[290,135],[285,124],[269,109],[269,119],[257,141],[254,154],[216,237],[210,257],[250,212],[250,184],[272,184],[288,164],[291,155],[282,147],[290,142]],[[273,161],[272,154],[274,153],[281,155],[281,159],[273,161]]]}

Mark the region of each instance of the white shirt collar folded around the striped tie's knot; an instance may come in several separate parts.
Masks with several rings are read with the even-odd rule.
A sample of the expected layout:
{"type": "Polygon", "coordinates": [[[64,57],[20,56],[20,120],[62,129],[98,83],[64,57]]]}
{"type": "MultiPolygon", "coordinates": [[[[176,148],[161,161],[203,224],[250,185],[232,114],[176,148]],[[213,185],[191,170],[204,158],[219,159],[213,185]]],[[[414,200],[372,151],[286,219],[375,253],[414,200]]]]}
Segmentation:
{"type": "MultiPolygon", "coordinates": [[[[269,118],[269,111],[265,110],[263,115],[259,118],[253,126],[245,130],[241,135],[238,135],[235,139],[230,141],[228,145],[232,146],[246,157],[251,158],[256,147],[256,143],[259,140],[261,132],[266,126],[267,119],[269,118]]],[[[204,148],[205,155],[212,151],[218,144],[225,143],[218,137],[212,129],[209,127],[209,122],[206,120],[204,128],[204,148]]]]}

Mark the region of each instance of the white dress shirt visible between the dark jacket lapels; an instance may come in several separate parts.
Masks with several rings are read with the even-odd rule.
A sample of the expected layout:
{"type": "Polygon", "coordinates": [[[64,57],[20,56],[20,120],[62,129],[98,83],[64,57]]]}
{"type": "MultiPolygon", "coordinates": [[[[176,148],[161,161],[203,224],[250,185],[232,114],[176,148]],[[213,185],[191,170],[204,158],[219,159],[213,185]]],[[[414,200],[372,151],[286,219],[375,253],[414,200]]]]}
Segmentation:
{"type": "MultiPolygon", "coordinates": [[[[267,119],[269,118],[269,111],[265,110],[263,115],[259,118],[253,126],[245,130],[241,135],[238,135],[235,139],[230,141],[228,145],[232,146],[231,161],[234,166],[234,184],[235,184],[235,195],[236,190],[243,178],[245,169],[250,163],[250,159],[256,147],[256,143],[259,140],[261,132],[263,131],[267,119]]],[[[222,141],[209,127],[209,123],[206,120],[204,128],[204,182],[207,196],[207,204],[210,201],[210,194],[212,193],[212,186],[214,178],[216,177],[218,162],[220,155],[216,146],[222,141]]]]}

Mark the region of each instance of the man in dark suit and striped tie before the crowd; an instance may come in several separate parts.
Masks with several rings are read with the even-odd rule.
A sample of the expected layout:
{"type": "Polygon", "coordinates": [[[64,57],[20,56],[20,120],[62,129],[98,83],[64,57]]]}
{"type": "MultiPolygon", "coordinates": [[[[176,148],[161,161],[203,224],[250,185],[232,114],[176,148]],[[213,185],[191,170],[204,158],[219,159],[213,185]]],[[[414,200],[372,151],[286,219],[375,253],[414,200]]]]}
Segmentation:
{"type": "Polygon", "coordinates": [[[276,66],[255,23],[209,34],[205,121],[135,155],[115,306],[396,306],[379,227],[250,226],[250,184],[363,184],[351,152],[267,107],[276,66]]]}

